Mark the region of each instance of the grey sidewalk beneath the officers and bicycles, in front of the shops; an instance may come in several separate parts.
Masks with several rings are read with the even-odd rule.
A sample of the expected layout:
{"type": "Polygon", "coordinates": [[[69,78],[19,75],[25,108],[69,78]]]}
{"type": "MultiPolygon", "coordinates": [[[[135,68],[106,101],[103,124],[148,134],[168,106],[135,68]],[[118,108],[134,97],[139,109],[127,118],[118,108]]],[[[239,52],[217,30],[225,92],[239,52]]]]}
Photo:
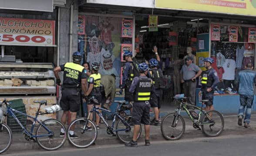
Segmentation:
{"type": "MultiPolygon", "coordinates": [[[[164,112],[167,114],[167,112],[164,112]]],[[[224,130],[221,135],[226,135],[226,134],[239,134],[243,135],[245,132],[246,133],[256,133],[256,114],[252,114],[251,117],[251,123],[249,128],[244,128],[240,127],[237,125],[237,117],[235,114],[233,115],[224,115],[224,130]]],[[[184,138],[195,138],[195,137],[205,137],[202,134],[202,131],[196,130],[192,127],[192,122],[191,120],[188,119],[188,117],[185,118],[185,133],[182,136],[181,139],[184,138]]],[[[109,120],[109,123],[111,121],[109,120]]],[[[144,142],[145,140],[145,132],[144,132],[144,126],[142,125],[142,133],[140,137],[140,142],[144,142]]],[[[160,126],[151,126],[150,127],[150,140],[155,141],[155,140],[165,140],[162,136],[161,133],[161,128],[160,126]]],[[[103,145],[103,144],[115,144],[115,143],[121,143],[117,136],[111,136],[108,135],[106,132],[106,127],[104,124],[100,124],[100,130],[98,130],[98,138],[95,142],[96,146],[97,145],[103,145]]],[[[141,144],[141,143],[140,143],[141,144]]],[[[1,145],[1,140],[0,140],[0,145],[1,145]]],[[[72,147],[68,140],[66,140],[64,146],[62,148],[67,148],[67,147],[72,147]]],[[[31,149],[41,149],[37,143],[34,141],[26,141],[24,139],[24,135],[22,134],[13,134],[13,143],[10,146],[10,149],[8,151],[18,151],[18,150],[31,150],[31,149]]],[[[44,150],[44,149],[41,149],[44,150]]]]}

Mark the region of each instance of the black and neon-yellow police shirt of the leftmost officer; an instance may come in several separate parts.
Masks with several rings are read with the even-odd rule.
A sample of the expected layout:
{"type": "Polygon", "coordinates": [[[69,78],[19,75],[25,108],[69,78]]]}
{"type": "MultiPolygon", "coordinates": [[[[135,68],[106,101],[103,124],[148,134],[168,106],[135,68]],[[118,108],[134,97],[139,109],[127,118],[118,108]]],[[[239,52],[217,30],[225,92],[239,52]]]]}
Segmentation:
{"type": "Polygon", "coordinates": [[[61,71],[64,71],[63,76],[63,84],[69,86],[77,86],[77,84],[81,84],[81,79],[86,79],[86,70],[83,66],[73,63],[67,62],[63,65],[60,65],[61,71]]]}

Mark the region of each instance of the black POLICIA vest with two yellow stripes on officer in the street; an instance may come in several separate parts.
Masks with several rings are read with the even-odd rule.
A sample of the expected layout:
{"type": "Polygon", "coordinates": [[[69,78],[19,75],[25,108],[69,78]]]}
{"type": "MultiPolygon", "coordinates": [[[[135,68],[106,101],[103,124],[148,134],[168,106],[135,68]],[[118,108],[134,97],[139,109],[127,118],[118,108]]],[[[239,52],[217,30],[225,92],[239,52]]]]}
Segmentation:
{"type": "Polygon", "coordinates": [[[149,101],[153,81],[151,78],[139,78],[135,89],[135,101],[149,101]]]}

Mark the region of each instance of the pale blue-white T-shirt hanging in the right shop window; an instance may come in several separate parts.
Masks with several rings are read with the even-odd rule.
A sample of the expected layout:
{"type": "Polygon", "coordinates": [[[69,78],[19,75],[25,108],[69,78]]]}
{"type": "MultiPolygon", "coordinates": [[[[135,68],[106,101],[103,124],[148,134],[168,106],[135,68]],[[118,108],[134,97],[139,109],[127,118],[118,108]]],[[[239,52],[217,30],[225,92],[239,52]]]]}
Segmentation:
{"type": "Polygon", "coordinates": [[[226,59],[225,63],[222,65],[224,69],[224,73],[222,75],[222,79],[224,80],[235,80],[235,69],[236,62],[233,59],[226,59]]]}

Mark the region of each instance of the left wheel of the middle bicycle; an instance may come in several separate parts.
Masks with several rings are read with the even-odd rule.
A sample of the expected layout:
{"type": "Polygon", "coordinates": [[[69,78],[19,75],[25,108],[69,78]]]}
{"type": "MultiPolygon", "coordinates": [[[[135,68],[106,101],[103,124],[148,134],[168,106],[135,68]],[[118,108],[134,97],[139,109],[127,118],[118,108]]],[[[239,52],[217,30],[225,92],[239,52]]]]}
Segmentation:
{"type": "Polygon", "coordinates": [[[95,124],[91,120],[88,120],[88,123],[91,123],[91,130],[85,130],[84,133],[82,133],[86,120],[87,119],[84,117],[77,118],[70,123],[67,130],[69,133],[71,127],[74,127],[74,133],[78,136],[78,138],[71,139],[69,135],[67,138],[72,145],[78,148],[86,148],[91,146],[97,139],[98,131],[95,124]]]}

